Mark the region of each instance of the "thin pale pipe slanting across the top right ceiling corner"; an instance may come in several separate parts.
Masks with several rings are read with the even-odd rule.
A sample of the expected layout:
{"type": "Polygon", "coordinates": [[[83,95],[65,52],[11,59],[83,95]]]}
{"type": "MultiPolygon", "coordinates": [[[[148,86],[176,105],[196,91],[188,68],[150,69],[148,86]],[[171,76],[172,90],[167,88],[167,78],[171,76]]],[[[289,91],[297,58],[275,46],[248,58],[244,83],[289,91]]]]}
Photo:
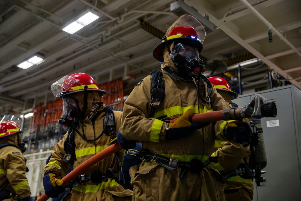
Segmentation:
{"type": "Polygon", "coordinates": [[[281,40],[283,40],[283,42],[290,46],[290,48],[293,49],[301,57],[301,52],[295,46],[293,46],[293,44],[290,43],[282,33],[280,33],[275,27],[273,27],[273,25],[268,20],[266,20],[249,2],[247,2],[247,0],[240,0],[240,2],[246,5],[247,8],[249,8],[253,12],[253,14],[256,15],[256,17],[258,17],[268,28],[271,28],[276,33],[276,35],[281,40]]]}

